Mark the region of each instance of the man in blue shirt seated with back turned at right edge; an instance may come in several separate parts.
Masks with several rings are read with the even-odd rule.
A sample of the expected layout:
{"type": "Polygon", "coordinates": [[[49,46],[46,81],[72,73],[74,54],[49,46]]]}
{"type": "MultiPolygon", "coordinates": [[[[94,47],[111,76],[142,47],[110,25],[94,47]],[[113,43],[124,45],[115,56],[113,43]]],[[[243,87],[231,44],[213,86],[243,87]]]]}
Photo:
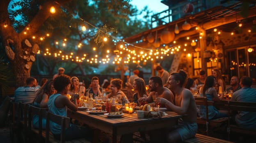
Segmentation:
{"type": "MultiPolygon", "coordinates": [[[[231,101],[256,102],[256,89],[251,88],[252,79],[243,76],[240,85],[242,88],[233,93],[231,101]]],[[[235,113],[233,112],[233,114],[235,113]]],[[[240,127],[256,129],[256,112],[238,111],[234,120],[240,127]]]]}

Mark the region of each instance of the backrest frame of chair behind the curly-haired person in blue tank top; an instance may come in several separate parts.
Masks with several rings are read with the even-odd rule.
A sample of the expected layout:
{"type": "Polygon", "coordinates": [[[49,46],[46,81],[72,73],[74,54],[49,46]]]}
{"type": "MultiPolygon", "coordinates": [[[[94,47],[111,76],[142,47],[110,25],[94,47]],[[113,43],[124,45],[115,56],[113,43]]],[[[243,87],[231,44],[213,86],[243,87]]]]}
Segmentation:
{"type": "Polygon", "coordinates": [[[47,112],[46,114],[46,143],[49,143],[50,121],[61,125],[60,142],[65,142],[65,130],[70,126],[70,118],[47,112]]]}

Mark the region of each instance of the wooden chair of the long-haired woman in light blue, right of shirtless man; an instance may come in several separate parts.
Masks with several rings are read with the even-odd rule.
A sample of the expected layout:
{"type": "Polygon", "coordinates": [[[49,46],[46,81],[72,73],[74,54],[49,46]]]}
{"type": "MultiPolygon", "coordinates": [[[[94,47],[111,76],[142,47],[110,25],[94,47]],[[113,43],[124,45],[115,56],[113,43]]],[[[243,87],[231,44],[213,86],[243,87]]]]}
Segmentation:
{"type": "Polygon", "coordinates": [[[209,134],[209,127],[217,127],[224,122],[227,122],[227,118],[220,118],[219,120],[209,120],[208,118],[208,106],[213,105],[213,101],[207,101],[206,97],[194,97],[196,105],[204,105],[206,107],[206,119],[197,117],[197,124],[206,125],[206,134],[209,134]]]}

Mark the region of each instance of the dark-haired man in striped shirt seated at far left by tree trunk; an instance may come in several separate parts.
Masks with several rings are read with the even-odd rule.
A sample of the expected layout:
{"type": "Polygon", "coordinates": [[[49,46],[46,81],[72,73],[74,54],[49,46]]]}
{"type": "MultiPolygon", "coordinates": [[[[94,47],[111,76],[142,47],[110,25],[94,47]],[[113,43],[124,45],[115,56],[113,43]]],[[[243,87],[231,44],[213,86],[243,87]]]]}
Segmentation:
{"type": "Polygon", "coordinates": [[[15,102],[33,103],[36,97],[37,80],[36,78],[29,77],[26,80],[26,86],[18,87],[14,92],[15,102]]]}

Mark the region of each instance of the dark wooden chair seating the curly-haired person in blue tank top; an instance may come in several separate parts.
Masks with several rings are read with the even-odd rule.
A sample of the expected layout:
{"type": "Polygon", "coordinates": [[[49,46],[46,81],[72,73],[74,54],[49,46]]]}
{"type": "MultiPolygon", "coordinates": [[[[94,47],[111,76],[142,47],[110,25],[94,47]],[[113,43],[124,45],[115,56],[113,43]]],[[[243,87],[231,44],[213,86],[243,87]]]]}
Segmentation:
{"type": "MultiPolygon", "coordinates": [[[[50,136],[50,121],[57,123],[61,125],[61,134],[60,134],[60,143],[65,143],[65,130],[67,127],[70,126],[70,118],[59,116],[52,114],[50,112],[46,113],[46,143],[53,143],[53,142],[59,142],[53,138],[53,136],[50,136]]],[[[84,138],[81,139],[75,139],[72,141],[69,141],[70,143],[90,143],[84,138]]]]}

